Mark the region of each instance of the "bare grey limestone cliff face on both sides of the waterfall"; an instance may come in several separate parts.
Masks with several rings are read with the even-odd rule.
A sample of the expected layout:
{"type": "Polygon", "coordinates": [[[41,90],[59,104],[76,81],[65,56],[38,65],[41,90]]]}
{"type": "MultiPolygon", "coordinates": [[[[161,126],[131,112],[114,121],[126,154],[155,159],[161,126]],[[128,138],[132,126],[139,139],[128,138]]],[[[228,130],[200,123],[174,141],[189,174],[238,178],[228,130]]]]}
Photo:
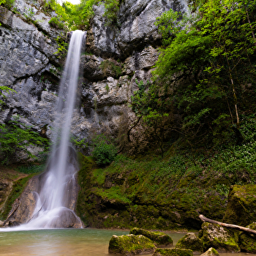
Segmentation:
{"type": "MultiPolygon", "coordinates": [[[[40,3],[17,0],[18,14],[0,7],[0,84],[16,91],[4,99],[0,121],[18,115],[21,123],[50,138],[62,65],[54,54],[59,47],[56,39],[65,34],[50,28],[48,21],[54,13],[45,15],[40,3]]],[[[161,38],[154,22],[170,8],[184,12],[186,0],[124,0],[118,25],[105,26],[104,6],[94,7],[81,58],[80,103],[72,121],[72,134],[78,139],[89,141],[94,132],[117,137],[132,126],[135,115],[128,102],[138,88],[135,80],[151,77],[161,38]]],[[[146,142],[140,129],[143,127],[138,127],[131,138],[137,145],[140,141],[143,148],[146,142]]]]}

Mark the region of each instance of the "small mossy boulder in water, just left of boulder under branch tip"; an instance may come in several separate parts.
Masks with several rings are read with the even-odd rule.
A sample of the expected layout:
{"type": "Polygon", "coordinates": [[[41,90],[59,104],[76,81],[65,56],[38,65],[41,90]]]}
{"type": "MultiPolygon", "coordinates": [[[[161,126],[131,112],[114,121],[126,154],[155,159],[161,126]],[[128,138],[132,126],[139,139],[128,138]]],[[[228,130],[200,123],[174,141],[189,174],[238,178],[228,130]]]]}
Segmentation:
{"type": "Polygon", "coordinates": [[[195,233],[187,233],[183,238],[178,240],[176,248],[192,249],[193,252],[203,252],[203,242],[195,233]]]}

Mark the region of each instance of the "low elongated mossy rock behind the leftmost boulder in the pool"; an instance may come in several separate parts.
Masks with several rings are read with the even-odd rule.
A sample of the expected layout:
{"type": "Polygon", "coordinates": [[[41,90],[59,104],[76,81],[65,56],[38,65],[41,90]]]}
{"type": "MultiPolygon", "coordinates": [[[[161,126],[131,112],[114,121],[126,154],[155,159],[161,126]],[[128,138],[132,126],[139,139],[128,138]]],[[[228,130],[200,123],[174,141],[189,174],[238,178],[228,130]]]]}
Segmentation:
{"type": "Polygon", "coordinates": [[[134,227],[129,232],[133,235],[143,235],[153,241],[157,246],[171,246],[173,245],[173,239],[170,236],[162,232],[152,232],[148,230],[143,230],[142,228],[134,227]]]}

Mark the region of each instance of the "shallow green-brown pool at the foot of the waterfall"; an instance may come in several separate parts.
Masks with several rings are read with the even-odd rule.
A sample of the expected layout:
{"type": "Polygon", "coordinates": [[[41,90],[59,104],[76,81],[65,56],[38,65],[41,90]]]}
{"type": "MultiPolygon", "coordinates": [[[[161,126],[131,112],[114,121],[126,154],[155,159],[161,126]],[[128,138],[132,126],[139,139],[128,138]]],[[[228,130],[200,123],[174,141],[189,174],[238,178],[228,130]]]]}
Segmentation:
{"type": "MultiPolygon", "coordinates": [[[[0,230],[2,231],[2,230],[0,230]]],[[[5,256],[104,256],[112,235],[127,235],[127,230],[53,229],[0,232],[0,255],[5,256]]],[[[168,233],[174,244],[184,233],[168,233]]],[[[221,254],[221,256],[234,254],[221,254]]],[[[236,256],[245,256],[238,253],[236,256]]],[[[247,254],[248,255],[248,254],[247,254]]]]}

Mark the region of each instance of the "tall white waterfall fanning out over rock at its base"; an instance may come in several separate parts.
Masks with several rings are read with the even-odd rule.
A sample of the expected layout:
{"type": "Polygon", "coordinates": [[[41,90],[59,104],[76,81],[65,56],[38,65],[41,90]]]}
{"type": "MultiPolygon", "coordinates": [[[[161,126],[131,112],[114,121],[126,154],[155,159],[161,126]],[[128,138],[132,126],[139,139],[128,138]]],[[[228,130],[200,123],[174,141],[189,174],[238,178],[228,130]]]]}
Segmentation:
{"type": "Polygon", "coordinates": [[[54,122],[52,156],[48,170],[39,178],[34,214],[26,228],[82,227],[75,215],[75,173],[78,171],[75,151],[69,146],[72,113],[75,108],[80,62],[80,50],[85,32],[73,31],[67,61],[59,89],[57,116],[54,122]]]}

